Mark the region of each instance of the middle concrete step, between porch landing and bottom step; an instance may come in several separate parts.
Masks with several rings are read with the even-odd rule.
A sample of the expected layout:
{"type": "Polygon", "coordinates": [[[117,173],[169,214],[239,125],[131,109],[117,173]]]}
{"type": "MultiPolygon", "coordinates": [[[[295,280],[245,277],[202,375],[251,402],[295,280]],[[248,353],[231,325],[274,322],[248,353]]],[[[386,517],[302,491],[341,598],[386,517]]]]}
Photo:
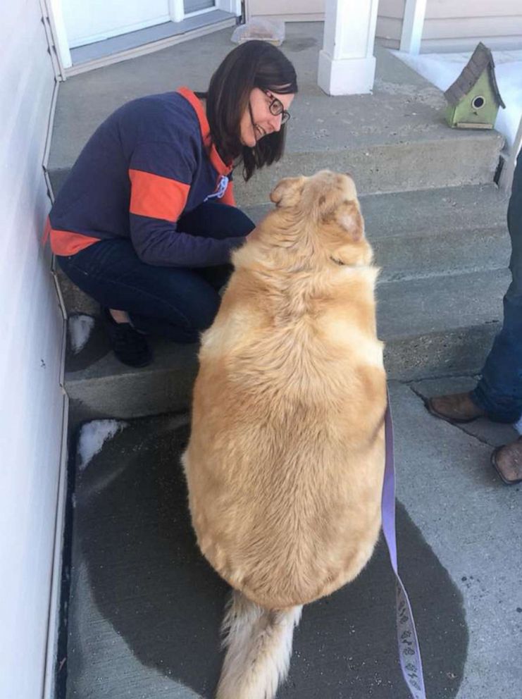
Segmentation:
{"type": "MultiPolygon", "coordinates": [[[[506,195],[496,185],[445,187],[361,197],[366,235],[382,280],[505,268],[506,195]]],[[[258,223],[273,204],[251,206],[258,223]]],[[[95,315],[97,304],[58,271],[69,313],[95,315]]]]}

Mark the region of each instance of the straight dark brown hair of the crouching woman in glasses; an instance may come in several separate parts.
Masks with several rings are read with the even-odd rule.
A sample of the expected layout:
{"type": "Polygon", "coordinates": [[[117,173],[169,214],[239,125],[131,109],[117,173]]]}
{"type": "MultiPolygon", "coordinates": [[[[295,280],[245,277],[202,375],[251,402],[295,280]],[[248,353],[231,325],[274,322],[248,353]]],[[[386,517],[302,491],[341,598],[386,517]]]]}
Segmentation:
{"type": "Polygon", "coordinates": [[[206,116],[218,153],[225,162],[242,162],[245,180],[256,168],[278,161],[285,151],[285,125],[254,147],[241,143],[240,122],[254,87],[280,94],[297,92],[294,66],[282,51],[263,41],[245,42],[230,51],[213,74],[208,92],[196,93],[206,97],[206,116]]]}

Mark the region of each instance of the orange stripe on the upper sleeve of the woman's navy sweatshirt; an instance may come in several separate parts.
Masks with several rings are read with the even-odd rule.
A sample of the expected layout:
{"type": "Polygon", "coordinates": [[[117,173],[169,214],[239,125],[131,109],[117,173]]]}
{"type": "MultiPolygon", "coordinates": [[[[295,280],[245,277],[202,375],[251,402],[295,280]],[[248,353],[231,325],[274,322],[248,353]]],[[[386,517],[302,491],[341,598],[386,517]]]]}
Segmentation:
{"type": "Polygon", "coordinates": [[[189,195],[189,185],[141,170],[129,170],[130,213],[178,221],[189,195]]]}

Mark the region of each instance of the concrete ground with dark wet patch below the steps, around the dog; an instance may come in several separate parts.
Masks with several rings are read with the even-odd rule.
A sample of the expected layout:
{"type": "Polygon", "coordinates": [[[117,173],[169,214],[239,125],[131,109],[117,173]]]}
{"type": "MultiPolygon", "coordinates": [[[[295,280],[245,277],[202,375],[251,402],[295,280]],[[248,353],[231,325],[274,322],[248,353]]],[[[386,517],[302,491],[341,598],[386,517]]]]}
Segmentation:
{"type": "MultiPolygon", "coordinates": [[[[489,464],[515,437],[456,428],[419,395],[469,378],[390,386],[399,568],[429,699],[518,699],[522,684],[520,490],[489,464]]],[[[77,471],[68,699],[211,699],[227,587],[199,555],[179,456],[188,416],[130,421],[77,471]]],[[[280,699],[408,699],[382,542],[354,583],[304,609],[280,699]]]]}

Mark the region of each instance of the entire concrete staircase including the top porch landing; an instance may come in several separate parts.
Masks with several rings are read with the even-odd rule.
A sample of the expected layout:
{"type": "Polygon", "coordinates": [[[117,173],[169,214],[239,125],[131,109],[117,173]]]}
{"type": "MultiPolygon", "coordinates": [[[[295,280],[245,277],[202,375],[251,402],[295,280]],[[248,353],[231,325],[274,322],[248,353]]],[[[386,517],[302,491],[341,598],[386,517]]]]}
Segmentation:
{"type": "MultiPolygon", "coordinates": [[[[321,25],[311,23],[287,26],[287,53],[298,75],[304,76],[302,94],[292,109],[287,151],[283,161],[258,173],[246,186],[236,175],[237,201],[259,221],[271,206],[268,194],[280,177],[321,168],[351,172],[361,195],[366,234],[382,268],[378,326],[386,343],[390,378],[411,381],[476,372],[499,328],[509,279],[507,199],[494,184],[502,137],[496,132],[447,128],[442,94],[385,49],[378,49],[373,95],[326,97],[311,68],[315,70],[318,42],[299,49],[303,33],[313,39],[320,32],[321,25]]],[[[207,37],[216,42],[216,54],[228,51],[229,44],[223,43],[228,42],[228,33],[207,37]]],[[[184,61],[189,44],[161,54],[179,54],[184,61]]],[[[154,56],[144,58],[148,67],[139,63],[141,58],[125,64],[128,71],[134,64],[135,81],[145,80],[143,71],[154,67],[154,56]]],[[[114,79],[117,69],[123,70],[110,66],[96,71],[100,94],[106,94],[107,74],[110,77],[112,70],[114,79]]],[[[124,77],[130,81],[125,76],[120,82],[124,77]]],[[[80,94],[87,87],[95,89],[92,76],[73,80],[79,81],[75,89],[80,94]]],[[[185,82],[201,87],[188,78],[185,82]]],[[[80,123],[75,147],[71,145],[73,105],[80,97],[70,85],[66,87],[68,103],[58,102],[64,123],[56,125],[49,161],[55,191],[92,130],[80,123]]],[[[143,89],[144,94],[151,91],[143,89]]],[[[127,89],[125,99],[133,96],[127,89]]],[[[90,299],[58,276],[70,312],[97,314],[90,299]]],[[[68,359],[66,390],[73,422],[187,408],[197,371],[196,352],[195,346],[158,341],[154,364],[133,370],[112,357],[97,328],[85,350],[68,359]]]]}

